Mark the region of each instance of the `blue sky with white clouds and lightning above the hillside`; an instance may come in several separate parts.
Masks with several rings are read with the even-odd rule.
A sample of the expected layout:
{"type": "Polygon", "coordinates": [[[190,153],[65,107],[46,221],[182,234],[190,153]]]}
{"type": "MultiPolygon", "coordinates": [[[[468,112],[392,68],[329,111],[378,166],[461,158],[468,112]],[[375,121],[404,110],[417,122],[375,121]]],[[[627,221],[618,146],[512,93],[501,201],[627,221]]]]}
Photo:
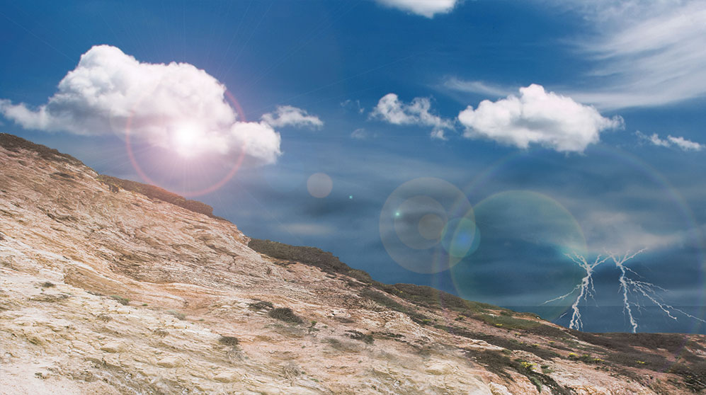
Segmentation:
{"type": "Polygon", "coordinates": [[[0,0],[0,21],[3,132],[382,282],[706,331],[702,1],[0,0]]]}

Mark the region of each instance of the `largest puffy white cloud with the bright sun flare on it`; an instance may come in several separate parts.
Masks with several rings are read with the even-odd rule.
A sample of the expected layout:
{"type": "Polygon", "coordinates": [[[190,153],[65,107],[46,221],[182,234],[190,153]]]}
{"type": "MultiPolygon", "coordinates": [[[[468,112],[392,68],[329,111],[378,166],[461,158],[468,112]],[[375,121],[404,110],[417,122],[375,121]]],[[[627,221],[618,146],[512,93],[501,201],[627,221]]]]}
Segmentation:
{"type": "Polygon", "coordinates": [[[239,120],[226,88],[191,64],[150,64],[97,45],[59,82],[46,104],[0,100],[0,113],[27,129],[100,135],[129,133],[184,156],[240,154],[261,163],[280,156],[280,134],[239,120]]]}

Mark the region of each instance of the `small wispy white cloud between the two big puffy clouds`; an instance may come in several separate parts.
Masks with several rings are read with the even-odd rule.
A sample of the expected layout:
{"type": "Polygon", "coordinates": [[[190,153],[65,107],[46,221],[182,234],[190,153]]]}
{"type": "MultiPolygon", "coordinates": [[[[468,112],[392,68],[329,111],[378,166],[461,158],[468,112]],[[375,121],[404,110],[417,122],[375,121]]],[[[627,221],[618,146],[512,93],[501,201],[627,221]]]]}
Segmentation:
{"type": "Polygon", "coordinates": [[[419,125],[431,126],[432,137],[444,139],[443,130],[453,130],[453,122],[445,120],[429,112],[431,101],[429,98],[414,98],[411,103],[403,103],[394,93],[387,93],[377,102],[370,113],[371,118],[384,120],[393,125],[419,125]]]}

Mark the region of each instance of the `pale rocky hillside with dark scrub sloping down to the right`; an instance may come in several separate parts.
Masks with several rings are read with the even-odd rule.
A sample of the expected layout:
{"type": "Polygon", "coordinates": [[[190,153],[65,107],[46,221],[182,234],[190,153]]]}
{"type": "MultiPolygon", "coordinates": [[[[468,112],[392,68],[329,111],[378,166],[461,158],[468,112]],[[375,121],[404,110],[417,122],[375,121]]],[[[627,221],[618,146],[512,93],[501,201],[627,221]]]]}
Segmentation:
{"type": "Polygon", "coordinates": [[[0,134],[0,394],[692,394],[706,339],[589,334],[0,134]]]}

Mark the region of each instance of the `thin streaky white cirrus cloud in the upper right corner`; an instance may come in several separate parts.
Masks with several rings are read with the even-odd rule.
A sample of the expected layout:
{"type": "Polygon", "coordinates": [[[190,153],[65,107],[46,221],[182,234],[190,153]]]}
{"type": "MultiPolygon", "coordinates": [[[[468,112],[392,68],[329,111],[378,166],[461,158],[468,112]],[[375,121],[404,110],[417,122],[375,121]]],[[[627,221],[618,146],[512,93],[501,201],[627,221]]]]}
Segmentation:
{"type": "Polygon", "coordinates": [[[706,95],[706,1],[562,1],[591,19],[578,47],[595,67],[571,93],[599,108],[657,106],[706,95]],[[579,5],[580,4],[580,5],[579,5]]]}

